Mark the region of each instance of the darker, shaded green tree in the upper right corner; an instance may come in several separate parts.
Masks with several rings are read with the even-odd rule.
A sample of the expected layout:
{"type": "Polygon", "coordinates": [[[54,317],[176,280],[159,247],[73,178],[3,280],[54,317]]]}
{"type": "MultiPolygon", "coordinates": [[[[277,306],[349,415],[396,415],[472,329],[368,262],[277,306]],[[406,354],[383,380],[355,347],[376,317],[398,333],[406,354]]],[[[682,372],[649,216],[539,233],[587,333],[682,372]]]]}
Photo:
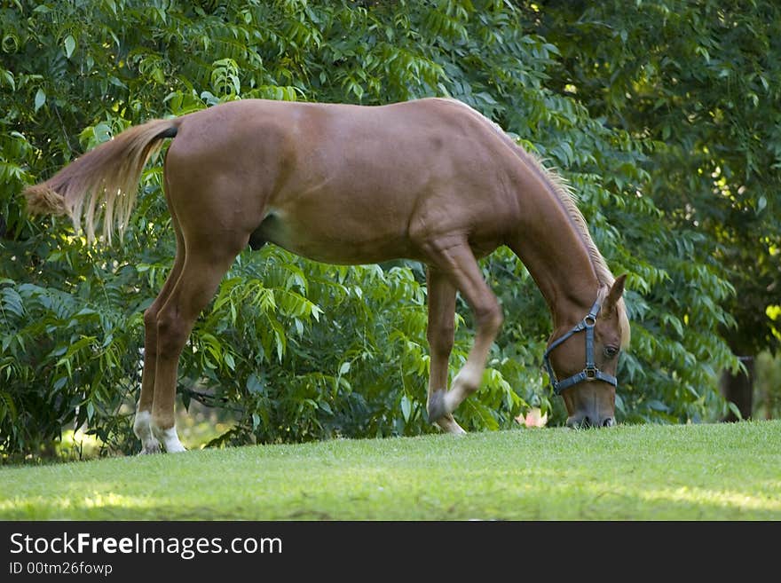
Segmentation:
{"type": "MultiPolygon", "coordinates": [[[[651,196],[736,293],[737,355],[778,351],[781,7],[775,2],[548,2],[552,79],[590,114],[653,144],[651,196]]],[[[687,316],[700,311],[692,303],[687,316]]]]}

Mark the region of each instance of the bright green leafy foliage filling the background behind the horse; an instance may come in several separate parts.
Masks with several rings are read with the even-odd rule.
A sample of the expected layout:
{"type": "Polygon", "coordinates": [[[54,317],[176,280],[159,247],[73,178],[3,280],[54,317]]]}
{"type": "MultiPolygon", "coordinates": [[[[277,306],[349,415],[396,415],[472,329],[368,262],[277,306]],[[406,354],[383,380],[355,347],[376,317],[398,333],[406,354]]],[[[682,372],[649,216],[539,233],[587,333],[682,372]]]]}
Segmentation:
{"type": "MultiPolygon", "coordinates": [[[[106,452],[133,451],[141,314],[175,246],[161,159],[149,165],[131,225],[112,247],[88,246],[63,220],[30,220],[19,196],[24,185],[130,125],[240,98],[373,105],[447,95],[476,107],[559,169],[613,272],[630,275],[633,346],[619,367],[619,421],[721,415],[715,374],[737,365],[723,336],[734,322],[730,279],[736,270],[745,273],[730,254],[763,248],[763,260],[776,260],[769,242],[742,247],[738,235],[757,228],[751,212],[767,217],[777,200],[769,189],[751,190],[752,206],[731,177],[776,179],[777,172],[764,158],[740,169],[720,159],[735,200],[711,190],[717,204],[708,206],[708,177],[700,171],[715,168],[702,157],[690,160],[684,146],[703,153],[727,144],[725,132],[739,128],[729,116],[706,129],[682,122],[686,116],[676,111],[687,93],[663,75],[663,55],[651,60],[653,51],[634,40],[646,35],[651,43],[654,35],[643,26],[667,26],[673,17],[658,11],[675,3],[649,4],[657,8],[645,10],[642,23],[623,3],[605,4],[592,19],[607,21],[603,26],[588,24],[592,12],[577,5],[501,0],[5,3],[0,450],[41,453],[61,427],[86,424],[106,452]],[[615,30],[622,39],[625,28],[608,17],[626,25],[623,43],[631,50],[611,46],[615,30]],[[633,108],[635,101],[622,97],[633,91],[656,97],[633,108]],[[698,189],[676,199],[675,189],[691,179],[698,189]],[[692,201],[707,215],[697,224],[686,214],[692,201]],[[736,226],[738,218],[746,225],[736,226]]],[[[759,27],[761,17],[746,13],[740,26],[759,27]]],[[[711,26],[708,19],[704,14],[698,26],[711,26]]],[[[712,63],[718,52],[706,49],[712,63]]],[[[699,65],[700,83],[719,78],[697,51],[681,54],[699,65]]],[[[745,69],[730,75],[733,83],[754,83],[766,113],[777,115],[777,106],[764,101],[779,86],[770,73],[770,89],[759,77],[747,80],[745,69]]],[[[716,112],[705,96],[691,107],[704,118],[716,112]]],[[[727,156],[727,146],[719,147],[727,156]]],[[[713,189],[718,178],[710,180],[713,189]]],[[[563,407],[540,368],[550,333],[545,303],[509,250],[482,265],[505,325],[483,388],[457,417],[467,429],[507,428],[539,402],[561,423],[563,407]]],[[[346,268],[279,248],[247,251],[196,323],[180,361],[179,392],[185,405],[195,398],[233,414],[235,423],[215,444],[430,431],[425,303],[422,267],[405,260],[346,268]]],[[[459,314],[452,373],[471,342],[463,303],[459,314]]]]}

